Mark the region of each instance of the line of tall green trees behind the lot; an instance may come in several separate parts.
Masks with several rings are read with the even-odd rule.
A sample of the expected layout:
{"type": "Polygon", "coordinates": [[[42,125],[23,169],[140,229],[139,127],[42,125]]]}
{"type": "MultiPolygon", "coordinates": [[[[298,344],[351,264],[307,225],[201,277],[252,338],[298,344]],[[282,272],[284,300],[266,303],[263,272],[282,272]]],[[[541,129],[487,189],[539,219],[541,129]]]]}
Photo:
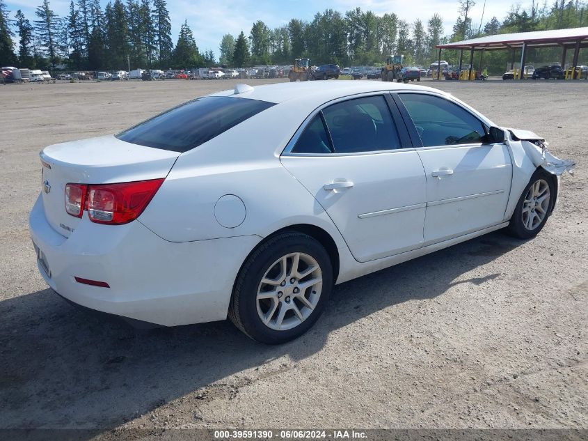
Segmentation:
{"type": "MultiPolygon", "coordinates": [[[[588,24],[587,3],[579,0],[554,0],[551,6],[532,0],[528,9],[512,6],[502,21],[491,17],[484,22],[482,13],[479,23],[472,21],[476,6],[475,0],[459,0],[459,16],[450,35],[445,35],[443,17],[437,13],[429,20],[409,23],[393,12],[379,16],[361,8],[346,13],[327,9],[311,21],[293,18],[273,29],[259,20],[247,36],[244,31],[236,38],[223,36],[218,63],[239,68],[310,58],[316,65],[381,65],[388,56],[403,54],[406,64],[426,66],[436,59],[435,46],[444,42],[588,24]]],[[[551,52],[555,56],[554,49],[551,52]]],[[[552,56],[551,52],[546,56],[552,56]]],[[[450,62],[456,57],[452,52],[444,56],[450,62]]],[[[509,57],[514,52],[495,52],[486,61],[502,67],[509,57]]],[[[212,50],[200,52],[186,21],[173,44],[166,0],[111,0],[104,10],[100,0],[71,0],[66,17],[56,15],[49,0],[43,0],[32,23],[21,10],[11,18],[0,0],[0,63],[53,70],[61,64],[72,70],[117,70],[127,65],[206,67],[217,59],[212,50]]]]}

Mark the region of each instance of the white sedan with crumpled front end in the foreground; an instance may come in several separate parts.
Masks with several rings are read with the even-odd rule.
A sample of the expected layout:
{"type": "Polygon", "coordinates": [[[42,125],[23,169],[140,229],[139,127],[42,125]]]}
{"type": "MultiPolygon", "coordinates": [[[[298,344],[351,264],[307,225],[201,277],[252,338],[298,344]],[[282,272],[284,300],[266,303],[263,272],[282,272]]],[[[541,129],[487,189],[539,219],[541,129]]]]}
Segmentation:
{"type": "Polygon", "coordinates": [[[335,284],[498,229],[532,238],[573,167],[388,82],[237,84],[40,159],[30,230],[54,291],[156,325],[228,316],[265,343],[308,330],[335,284]]]}

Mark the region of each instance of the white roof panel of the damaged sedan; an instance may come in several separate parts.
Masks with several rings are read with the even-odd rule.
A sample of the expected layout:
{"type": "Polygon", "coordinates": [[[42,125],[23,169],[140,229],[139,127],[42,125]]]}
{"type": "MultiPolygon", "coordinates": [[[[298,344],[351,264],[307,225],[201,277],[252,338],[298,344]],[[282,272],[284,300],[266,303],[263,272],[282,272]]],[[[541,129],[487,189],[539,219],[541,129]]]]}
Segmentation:
{"type": "Polygon", "coordinates": [[[315,109],[325,102],[343,98],[345,96],[357,95],[360,93],[380,91],[431,91],[440,95],[447,95],[443,91],[427,86],[413,86],[411,84],[392,82],[351,82],[337,81],[330,82],[294,82],[276,83],[255,86],[252,90],[235,94],[234,90],[213,93],[212,96],[235,96],[236,98],[249,98],[274,102],[276,104],[285,102],[308,103],[308,107],[315,109]]]}

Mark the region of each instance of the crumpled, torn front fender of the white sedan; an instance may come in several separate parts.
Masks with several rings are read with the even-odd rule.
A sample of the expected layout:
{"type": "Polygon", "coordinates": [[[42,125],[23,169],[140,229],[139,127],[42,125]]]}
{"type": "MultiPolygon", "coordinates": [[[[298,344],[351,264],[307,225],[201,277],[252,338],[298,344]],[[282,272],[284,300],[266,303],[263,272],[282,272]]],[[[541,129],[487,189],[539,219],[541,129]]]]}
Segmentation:
{"type": "MultiPolygon", "coordinates": [[[[531,160],[535,167],[542,167],[549,173],[561,176],[564,171],[573,175],[575,161],[560,160],[547,150],[548,143],[543,137],[540,137],[529,130],[506,129],[509,132],[507,136],[507,145],[513,153],[515,162],[523,160],[521,153],[531,160]],[[522,149],[523,151],[520,151],[522,149]],[[516,152],[516,150],[519,150],[516,152]],[[518,154],[516,154],[518,153],[518,154]]],[[[520,165],[520,164],[518,164],[520,165]]]]}

